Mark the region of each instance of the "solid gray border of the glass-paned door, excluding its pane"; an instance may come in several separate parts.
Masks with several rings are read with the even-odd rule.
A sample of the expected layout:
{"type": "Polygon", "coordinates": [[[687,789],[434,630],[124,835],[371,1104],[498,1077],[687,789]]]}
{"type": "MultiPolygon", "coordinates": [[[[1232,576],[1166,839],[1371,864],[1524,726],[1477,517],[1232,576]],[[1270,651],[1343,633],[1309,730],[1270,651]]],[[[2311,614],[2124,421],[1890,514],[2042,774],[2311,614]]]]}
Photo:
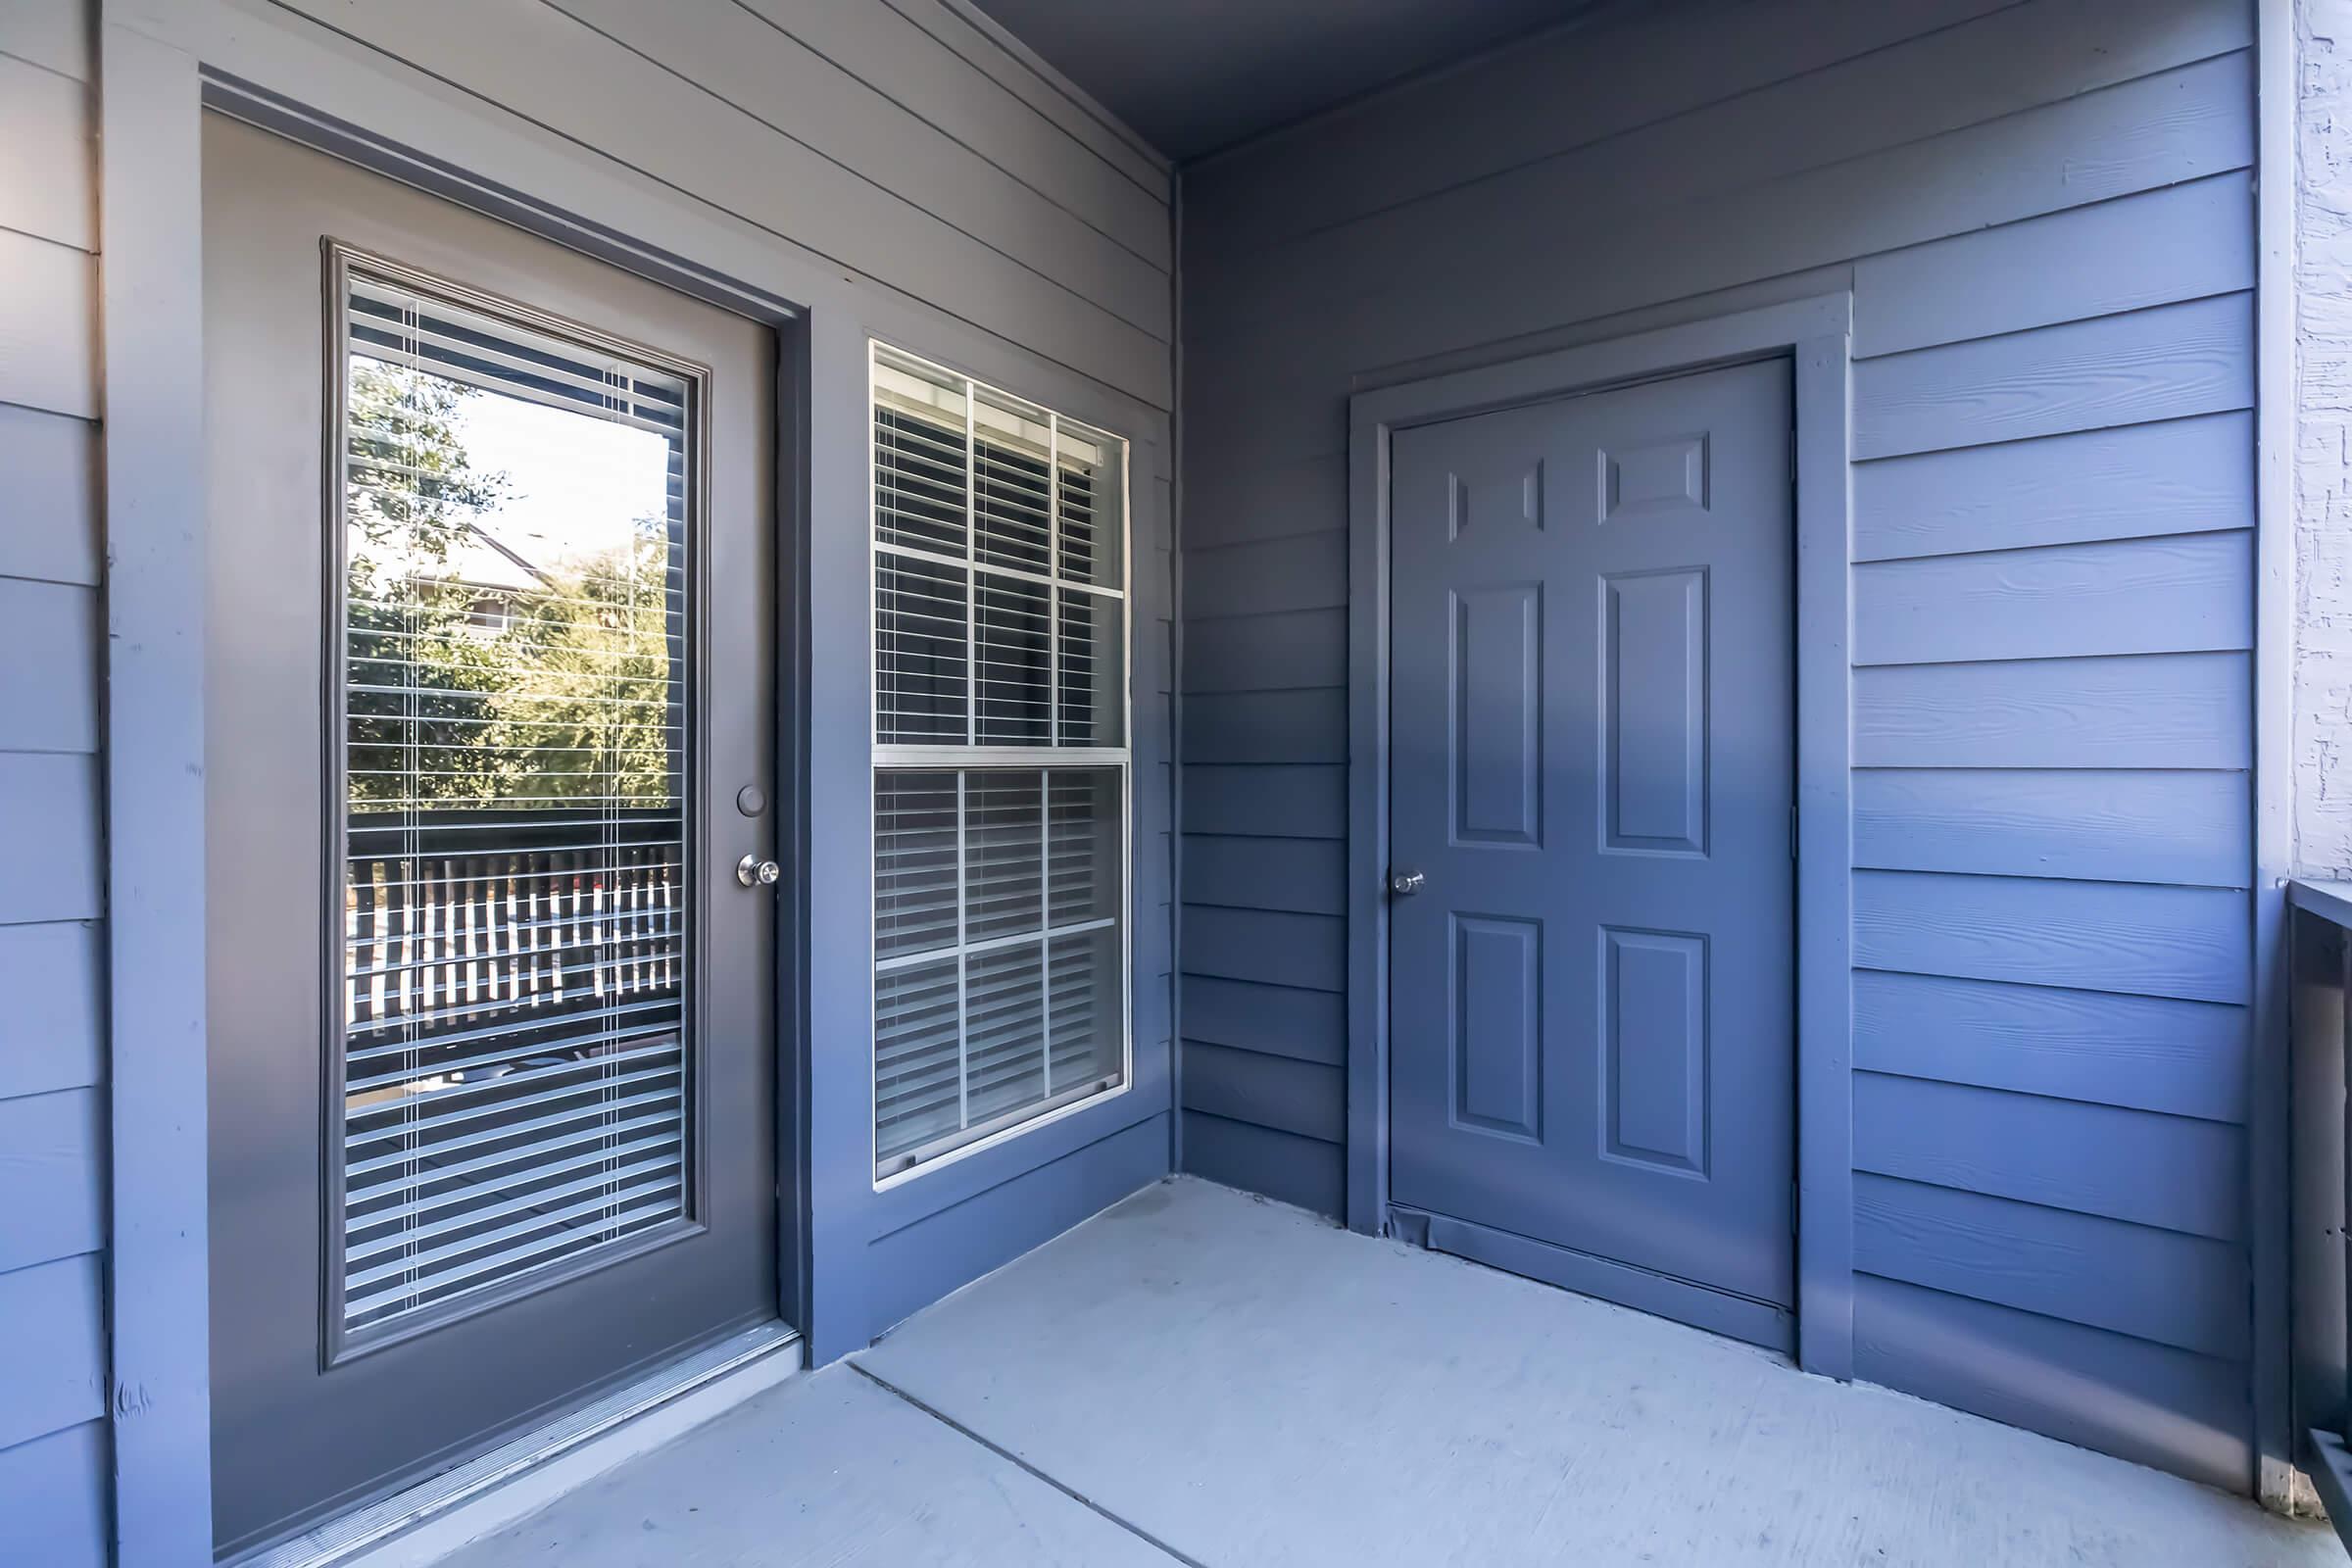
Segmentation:
{"type": "MultiPolygon", "coordinates": [[[[299,1509],[334,1514],[362,1505],[381,1488],[400,1486],[402,1467],[421,1474],[454,1453],[503,1441],[517,1427],[583,1403],[614,1380],[691,1354],[713,1335],[790,1312],[781,1298],[779,1211],[800,1182],[779,1180],[771,1152],[783,1105],[771,1088],[781,1077],[771,1027],[774,976],[779,964],[790,961],[774,940],[781,889],[743,891],[724,870],[746,846],[771,853],[779,835],[779,816],[764,802],[757,811],[734,806],[736,785],[746,778],[774,790],[781,750],[771,696],[781,663],[771,632],[776,595],[764,569],[776,512],[769,456],[774,334],[228,118],[214,118],[205,139],[216,202],[207,216],[209,259],[230,259],[212,280],[205,306],[207,329],[219,331],[209,355],[209,374],[219,381],[207,440],[235,454],[228,473],[216,465],[212,475],[212,557],[214,576],[238,583],[214,607],[207,635],[207,658],[219,661],[207,696],[230,715],[228,743],[214,748],[209,771],[230,783],[209,802],[212,849],[221,853],[207,870],[205,919],[214,922],[216,976],[235,976],[212,992],[207,1053],[214,1088],[214,1356],[238,1368],[235,1382],[219,1387],[214,1399],[214,1474],[216,1528],[223,1549],[240,1552],[289,1521],[318,1521],[299,1509]],[[346,240],[325,247],[325,310],[303,310],[301,301],[320,275],[322,230],[346,240]],[[355,247],[348,237],[365,244],[355,247]],[[388,259],[383,252],[393,244],[426,266],[388,259]],[[339,710],[327,696],[325,712],[336,738],[325,755],[315,717],[301,712],[313,682],[322,693],[343,686],[341,529],[329,529],[318,559],[289,541],[306,534],[303,517],[315,517],[320,501],[329,517],[341,517],[341,364],[353,310],[346,296],[355,277],[367,277],[369,287],[412,287],[452,310],[480,310],[485,322],[546,331],[550,341],[579,343],[588,353],[616,353],[656,367],[656,374],[675,371],[687,388],[691,421],[684,425],[684,489],[673,503],[675,538],[687,557],[677,592],[682,621],[673,623],[670,644],[684,668],[666,715],[684,726],[684,750],[673,752],[673,778],[682,783],[673,795],[682,891],[682,940],[673,938],[682,964],[675,990],[680,1213],[593,1255],[543,1262],[503,1286],[419,1307],[358,1333],[343,1316],[343,1269],[334,1262],[343,1246],[336,1220],[346,1135],[339,1053],[329,1053],[320,1084],[320,1105],[336,1110],[320,1114],[315,1126],[287,1114],[292,1091],[273,1095],[259,1088],[303,1077],[303,1063],[315,1053],[313,1020],[325,1020],[327,1039],[341,1039],[346,1027],[334,1004],[343,938],[334,933],[332,914],[320,929],[318,905],[301,896],[318,886],[325,907],[334,910],[343,882],[329,867],[341,867],[350,849],[339,710]],[[557,301],[564,315],[548,313],[557,301]],[[614,324],[635,336],[609,336],[614,324]],[[654,341],[663,348],[644,346],[654,341]],[[687,348],[694,357],[675,360],[670,348],[687,348]],[[322,355],[325,390],[303,374],[322,355]],[[308,468],[313,461],[315,473],[308,468]],[[755,562],[760,569],[748,571],[755,562]],[[325,595],[320,576],[334,583],[325,595]],[[245,616],[235,602],[247,592],[287,609],[259,621],[245,616]],[[299,607],[320,597],[325,623],[303,625],[299,607]],[[318,670],[310,668],[313,656],[320,658],[318,670]],[[289,839],[285,823],[313,809],[325,813],[322,842],[303,844],[299,832],[289,839]],[[310,976],[301,973],[306,940],[318,950],[310,976]],[[663,1255],[649,1255],[654,1251],[663,1255]],[[313,1295],[322,1269],[325,1312],[313,1295]],[[452,1366],[452,1356],[494,1373],[437,1385],[435,1375],[447,1373],[435,1368],[452,1366]],[[428,1396],[402,1401],[400,1389],[426,1389],[428,1396]],[[346,1413],[355,1408],[383,1415],[350,1425],[346,1413]]],[[[510,830],[515,818],[506,820],[510,830]]],[[[783,830],[790,830],[788,820],[783,830]]],[[[574,835],[557,835],[567,837],[574,835]]],[[[419,856],[405,865],[423,863],[419,856]]],[[[480,870],[480,860],[461,865],[480,870]]],[[[597,860],[600,886],[616,889],[609,877],[619,870],[621,860],[597,860]]],[[[430,896],[423,886],[416,896],[430,896]]],[[[539,884],[532,886],[536,896],[539,884]]],[[[614,891],[612,898],[628,896],[614,891]]],[[[442,924],[454,919],[445,914],[442,924]]],[[[463,924],[475,931],[475,917],[463,924]]],[[[553,931],[541,936],[555,940],[553,931]]],[[[485,919],[480,933],[466,938],[466,954],[489,957],[492,947],[485,919]]],[[[555,964],[572,964],[576,952],[555,964]]],[[[383,950],[376,954],[372,961],[383,961],[383,950]]],[[[602,1001],[612,1001],[604,987],[619,985],[621,976],[621,969],[597,971],[602,1001]]],[[[468,1016],[477,1018],[482,1013],[468,1016]]],[[[501,1016],[492,1027],[543,1030],[555,1013],[541,1013],[536,1025],[520,1018],[501,1016]]],[[[619,1023],[607,1018],[588,1027],[619,1023]]],[[[475,1051],[492,1044],[482,1027],[470,1027],[468,1037],[475,1051]]],[[[644,1046],[644,1039],[652,1034],[635,1044],[644,1046]]],[[[482,1114],[482,1103],[468,1105],[468,1117],[482,1114]]],[[[381,1138],[381,1126],[369,1135],[381,1138]]],[[[454,1215],[442,1220],[445,1227],[454,1222],[454,1215]]]]}

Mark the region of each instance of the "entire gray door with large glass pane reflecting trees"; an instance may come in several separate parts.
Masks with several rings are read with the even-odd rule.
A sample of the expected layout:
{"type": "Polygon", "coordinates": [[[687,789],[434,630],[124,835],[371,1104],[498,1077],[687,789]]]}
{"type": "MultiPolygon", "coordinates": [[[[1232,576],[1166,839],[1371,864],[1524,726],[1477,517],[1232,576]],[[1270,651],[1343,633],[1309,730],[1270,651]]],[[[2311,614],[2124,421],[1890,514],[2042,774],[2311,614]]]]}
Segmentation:
{"type": "Polygon", "coordinates": [[[205,343],[226,1554],[776,1316],[774,346],[216,118],[205,343]]]}

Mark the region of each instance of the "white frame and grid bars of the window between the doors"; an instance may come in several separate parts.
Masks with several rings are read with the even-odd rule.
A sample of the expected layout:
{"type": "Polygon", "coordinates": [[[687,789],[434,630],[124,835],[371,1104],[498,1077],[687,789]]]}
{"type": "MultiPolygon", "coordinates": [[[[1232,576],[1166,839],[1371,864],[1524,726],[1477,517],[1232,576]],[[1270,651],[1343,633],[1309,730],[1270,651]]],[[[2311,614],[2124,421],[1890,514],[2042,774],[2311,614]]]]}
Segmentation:
{"type": "MultiPolygon", "coordinates": [[[[1117,487],[1117,505],[1120,505],[1120,524],[1117,524],[1117,538],[1120,538],[1120,583],[1117,583],[1117,588],[1105,588],[1105,585],[1098,585],[1098,583],[1065,583],[1063,576],[1061,576],[1061,505],[1058,505],[1058,489],[1061,489],[1058,440],[1061,440],[1061,421],[1063,418],[1065,416],[1061,411],[1051,409],[1049,404],[1044,404],[1044,402],[1040,402],[1035,397],[1023,397],[1021,393],[1014,393],[1009,388],[1000,388],[1000,386],[995,386],[990,381],[981,381],[978,376],[969,376],[969,374],[964,374],[960,369],[953,369],[948,364],[941,364],[941,362],[936,362],[936,360],[931,360],[927,355],[920,355],[915,350],[901,348],[898,343],[887,343],[882,339],[868,339],[866,341],[866,520],[863,520],[863,527],[866,527],[866,665],[868,665],[868,670],[866,670],[866,741],[868,741],[868,748],[873,752],[873,759],[870,759],[868,771],[866,771],[868,773],[868,783],[866,783],[866,886],[875,889],[877,886],[877,877],[880,877],[880,856],[877,856],[877,839],[875,839],[877,823],[875,823],[875,813],[873,813],[873,802],[875,802],[875,780],[884,771],[920,769],[920,771],[962,773],[962,771],[974,771],[974,769],[1004,769],[1004,771],[1021,771],[1021,769],[1037,769],[1037,771],[1049,771],[1049,769],[1103,771],[1103,769],[1115,769],[1117,776],[1120,776],[1120,865],[1117,865],[1117,870],[1120,870],[1120,912],[1117,912],[1117,926],[1120,926],[1120,964],[1117,964],[1120,966],[1120,990],[1117,990],[1120,1081],[1115,1086],[1110,1086],[1110,1088],[1096,1088],[1091,1093],[1075,1093],[1073,1098],[1068,1098],[1068,1100],[1063,1100],[1058,1105],[1054,1100],[1044,1100],[1040,1105],[1040,1110],[1035,1110],[1030,1114],[1014,1112],[1014,1119],[1007,1121],[1004,1126],[995,1128],[993,1133],[985,1133],[981,1138],[971,1138],[969,1143],[960,1143],[960,1145],[955,1145],[950,1150],[943,1150],[943,1152],[938,1152],[938,1154],[934,1154],[929,1159],[922,1159],[922,1161],[917,1161],[917,1164],[913,1164],[913,1166],[908,1166],[903,1171],[891,1171],[891,1173],[882,1175],[880,1173],[880,1164],[882,1164],[882,1159],[880,1159],[880,1147],[882,1147],[880,1133],[882,1133],[882,1128],[877,1126],[880,1124],[880,1088],[882,1088],[882,1077],[880,1077],[882,1074],[882,1039],[880,1039],[882,1030],[880,1030],[880,1016],[877,1016],[880,1009],[877,1009],[877,1001],[875,1001],[875,978],[882,973],[882,961],[884,959],[882,959],[882,945],[880,945],[880,933],[877,933],[877,919],[875,919],[875,914],[868,914],[868,919],[866,919],[866,983],[868,983],[868,1004],[866,1004],[866,1025],[868,1025],[866,1027],[866,1168],[873,1173],[873,1190],[875,1192],[887,1192],[891,1187],[903,1187],[906,1182],[920,1180],[920,1178],[924,1178],[924,1175],[929,1175],[934,1171],[943,1171],[946,1166],[953,1166],[953,1164],[957,1164],[962,1159],[971,1159],[974,1154],[981,1154],[985,1150],[995,1150],[995,1147],[1000,1147],[1004,1143],[1011,1143],[1014,1138],[1023,1138],[1028,1133],[1035,1133],[1035,1131],[1042,1131],[1047,1126],[1054,1126],[1056,1121],[1061,1121],[1065,1117],[1075,1117],[1077,1112],[1094,1110],[1098,1105],[1108,1105],[1108,1103],[1117,1100],[1120,1095],[1129,1093],[1136,1086],[1136,1016],[1134,1016],[1134,990],[1136,990],[1136,952],[1134,952],[1134,943],[1136,943],[1136,769],[1134,769],[1134,736],[1136,736],[1136,731],[1134,731],[1134,724],[1136,724],[1136,618],[1134,618],[1134,571],[1136,571],[1136,564],[1134,562],[1136,562],[1136,555],[1134,555],[1134,477],[1131,477],[1134,475],[1134,442],[1127,440],[1124,435],[1117,435],[1112,430],[1103,430],[1101,425],[1091,425],[1091,423],[1087,423],[1082,418],[1070,418],[1073,425],[1082,425],[1091,435],[1101,435],[1103,440],[1117,442],[1117,447],[1120,447],[1120,487],[1117,487]],[[901,360],[917,362],[917,364],[922,364],[924,369],[929,369],[936,376],[946,376],[946,378],[964,383],[964,456],[967,456],[967,470],[964,470],[964,557],[962,559],[950,557],[950,555],[938,552],[938,550],[917,550],[917,548],[910,548],[910,545],[884,545],[882,543],[882,529],[880,529],[880,503],[882,503],[882,496],[880,496],[880,484],[877,484],[877,477],[875,477],[877,468],[880,468],[880,442],[875,437],[875,409],[880,407],[880,381],[875,376],[875,369],[880,364],[880,355],[882,353],[896,355],[901,360]],[[1054,447],[1047,454],[1047,475],[1054,482],[1054,496],[1051,496],[1051,501],[1047,505],[1047,522],[1049,522],[1047,571],[1042,571],[1042,574],[1040,571],[1025,571],[1021,567],[995,567],[995,564],[988,564],[988,562],[978,559],[978,541],[976,541],[978,447],[974,442],[974,428],[976,428],[976,418],[978,418],[976,416],[976,404],[978,404],[978,395],[981,393],[993,393],[995,397],[1002,397],[1002,400],[1009,400],[1009,402],[1016,402],[1016,404],[1028,404],[1028,407],[1035,407],[1035,409],[1044,409],[1047,414],[1054,416],[1054,423],[1051,423],[1051,428],[1054,428],[1054,447]],[[1096,597],[1117,599],[1117,604],[1120,604],[1120,745],[978,745],[978,743],[971,743],[971,745],[884,745],[882,738],[880,738],[882,736],[882,663],[875,656],[875,632],[877,632],[875,597],[877,597],[877,590],[880,590],[880,574],[882,574],[882,557],[884,555],[903,555],[903,557],[913,557],[913,559],[931,559],[931,562],[938,562],[938,564],[960,567],[967,574],[964,712],[967,712],[967,733],[971,733],[971,736],[978,736],[978,689],[981,689],[981,679],[978,679],[976,637],[978,637],[978,583],[981,583],[981,574],[983,571],[993,571],[997,576],[1007,576],[1007,578],[1016,578],[1016,581],[1042,583],[1042,585],[1049,585],[1049,590],[1054,590],[1054,588],[1080,588],[1080,590],[1091,592],[1096,597]]],[[[1096,501],[1096,508],[1101,512],[1101,501],[1096,501]]],[[[1096,520],[1096,527],[1098,529],[1103,527],[1101,524],[1101,515],[1096,520]]],[[[1049,679],[1054,682],[1054,686],[1049,691],[1049,703],[1047,703],[1049,715],[1051,715],[1051,719],[1049,719],[1049,733],[1058,736],[1061,733],[1061,646],[1058,646],[1061,644],[1061,602],[1056,597],[1051,597],[1051,592],[1047,597],[1047,637],[1049,637],[1049,646],[1054,649],[1054,654],[1047,661],[1049,679]]],[[[1047,813],[1047,823],[1051,820],[1051,804],[1049,802],[1051,802],[1051,790],[1044,790],[1042,792],[1042,809],[1047,813]]],[[[962,788],[957,788],[957,820],[962,820],[962,788]]],[[[1042,823],[1040,830],[1044,830],[1047,823],[1042,823]]],[[[957,830],[957,837],[962,837],[962,830],[957,830]]],[[[957,844],[957,879],[962,879],[962,875],[964,875],[964,856],[962,856],[962,844],[957,844]]],[[[957,893],[957,900],[962,900],[962,893],[957,893]]],[[[1098,924],[1082,924],[1082,926],[1068,926],[1065,933],[1082,933],[1082,931],[1098,931],[1098,929],[1101,929],[1098,924]]],[[[957,936],[962,936],[962,931],[957,931],[957,936]]],[[[1051,945],[1051,936],[1056,936],[1056,931],[1051,926],[1044,926],[1040,931],[1040,936],[1037,936],[1040,947],[1049,947],[1051,945]]],[[[962,940],[957,940],[957,945],[953,945],[953,947],[936,947],[936,950],[924,952],[920,961],[938,961],[943,957],[957,959],[957,1016],[962,1016],[962,990],[964,990],[962,959],[969,952],[976,952],[976,950],[983,952],[983,950],[1000,947],[1000,945],[1007,945],[1007,943],[1009,943],[1009,938],[988,938],[988,940],[981,940],[981,943],[962,943],[962,940]]],[[[917,961],[917,959],[913,959],[910,954],[901,954],[896,961],[917,961]]],[[[962,1027],[962,1023],[960,1023],[960,1027],[962,1027]]],[[[1047,1056],[1051,1058],[1051,1037],[1047,1037],[1047,1056]]]]}

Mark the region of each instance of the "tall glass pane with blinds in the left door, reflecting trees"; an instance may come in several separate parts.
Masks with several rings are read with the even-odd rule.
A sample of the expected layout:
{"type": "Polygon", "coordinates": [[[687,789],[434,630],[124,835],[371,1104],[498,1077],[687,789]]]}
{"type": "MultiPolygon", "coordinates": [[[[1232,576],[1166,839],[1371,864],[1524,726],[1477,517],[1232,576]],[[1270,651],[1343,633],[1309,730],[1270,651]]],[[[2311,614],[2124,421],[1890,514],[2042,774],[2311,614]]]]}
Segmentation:
{"type": "Polygon", "coordinates": [[[689,383],[353,277],[341,1328],[682,1220],[689,383]]]}

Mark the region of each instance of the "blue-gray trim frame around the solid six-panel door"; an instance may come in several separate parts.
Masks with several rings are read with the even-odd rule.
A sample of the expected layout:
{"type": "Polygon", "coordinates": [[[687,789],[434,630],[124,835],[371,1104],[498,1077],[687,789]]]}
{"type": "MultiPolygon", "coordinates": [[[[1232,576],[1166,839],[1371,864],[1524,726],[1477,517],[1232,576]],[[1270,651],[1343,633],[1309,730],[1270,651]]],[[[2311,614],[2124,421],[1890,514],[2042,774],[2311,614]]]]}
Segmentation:
{"type": "Polygon", "coordinates": [[[1797,414],[1797,1361],[1853,1375],[1853,294],[1357,393],[1348,407],[1348,1227],[1390,1227],[1390,440],[1442,418],[1788,357],[1797,414]]]}

